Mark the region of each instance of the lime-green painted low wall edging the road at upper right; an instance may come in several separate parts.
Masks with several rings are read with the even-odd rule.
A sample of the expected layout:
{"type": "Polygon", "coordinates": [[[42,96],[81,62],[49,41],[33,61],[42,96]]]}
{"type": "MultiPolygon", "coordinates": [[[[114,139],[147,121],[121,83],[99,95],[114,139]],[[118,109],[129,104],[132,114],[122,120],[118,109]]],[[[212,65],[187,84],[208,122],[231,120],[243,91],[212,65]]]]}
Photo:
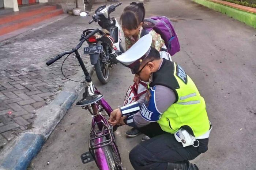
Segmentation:
{"type": "Polygon", "coordinates": [[[241,21],[253,28],[256,28],[256,13],[243,11],[238,8],[234,8],[225,4],[215,3],[210,0],[192,0],[198,4],[204,5],[205,7],[211,8],[215,11],[219,11],[226,14],[229,17],[233,17],[236,20],[241,21]]]}

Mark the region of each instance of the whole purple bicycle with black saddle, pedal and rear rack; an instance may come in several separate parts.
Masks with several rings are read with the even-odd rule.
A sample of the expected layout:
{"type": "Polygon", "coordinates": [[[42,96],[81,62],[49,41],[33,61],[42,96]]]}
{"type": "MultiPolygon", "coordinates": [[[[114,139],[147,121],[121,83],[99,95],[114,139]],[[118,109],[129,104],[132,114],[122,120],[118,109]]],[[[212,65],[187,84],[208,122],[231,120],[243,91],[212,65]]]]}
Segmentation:
{"type": "Polygon", "coordinates": [[[78,59],[86,80],[83,98],[76,103],[76,106],[81,106],[82,108],[89,110],[93,117],[89,134],[89,151],[81,155],[82,162],[88,163],[95,161],[100,170],[124,170],[120,153],[114,139],[114,129],[117,127],[113,127],[112,124],[108,123],[112,108],[106,100],[103,99],[103,95],[94,87],[91,76],[84,66],[81,55],[78,52],[78,49],[82,46],[84,41],[88,40],[90,36],[99,31],[100,30],[97,28],[88,33],[88,35],[83,34],[80,38],[80,43],[76,47],[71,51],[66,51],[57,55],[46,64],[49,66],[64,55],[75,53],[73,55],[78,59]]]}

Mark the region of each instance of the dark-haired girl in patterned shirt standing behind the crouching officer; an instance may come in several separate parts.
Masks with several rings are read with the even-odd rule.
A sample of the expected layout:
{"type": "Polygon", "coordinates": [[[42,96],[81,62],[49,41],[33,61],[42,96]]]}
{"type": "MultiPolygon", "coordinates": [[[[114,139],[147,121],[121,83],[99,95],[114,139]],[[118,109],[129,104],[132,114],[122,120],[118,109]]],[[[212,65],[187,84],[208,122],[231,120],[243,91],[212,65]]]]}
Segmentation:
{"type": "MultiPolygon", "coordinates": [[[[120,17],[120,23],[124,32],[125,36],[125,47],[126,50],[131,48],[136,41],[138,41],[141,37],[143,24],[144,24],[144,17],[145,17],[145,8],[143,3],[136,3],[133,2],[127,7],[124,8],[124,11],[120,17]]],[[[157,49],[160,52],[161,58],[165,58],[171,60],[171,56],[169,53],[162,51],[163,48],[166,49],[165,41],[162,39],[161,35],[156,33],[153,29],[149,32],[152,36],[152,44],[151,47],[157,49]]],[[[135,74],[133,82],[137,83],[138,86],[138,94],[142,91],[146,90],[146,87],[139,84],[139,77],[135,74]]],[[[144,98],[145,95],[142,95],[140,99],[144,98]]],[[[125,133],[128,137],[135,137],[139,134],[139,131],[135,128],[128,130],[125,133]]],[[[144,139],[148,139],[147,137],[143,137],[144,139]]]]}

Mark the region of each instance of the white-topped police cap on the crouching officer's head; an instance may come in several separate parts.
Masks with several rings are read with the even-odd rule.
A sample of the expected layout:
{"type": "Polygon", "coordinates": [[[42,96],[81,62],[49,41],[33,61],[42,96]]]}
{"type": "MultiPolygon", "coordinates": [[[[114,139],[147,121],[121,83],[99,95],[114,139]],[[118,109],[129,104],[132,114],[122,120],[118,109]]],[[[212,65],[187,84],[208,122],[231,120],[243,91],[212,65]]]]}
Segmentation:
{"type": "Polygon", "coordinates": [[[150,34],[144,35],[129,50],[117,56],[116,59],[126,67],[138,67],[150,52],[151,44],[152,36],[150,34]]]}

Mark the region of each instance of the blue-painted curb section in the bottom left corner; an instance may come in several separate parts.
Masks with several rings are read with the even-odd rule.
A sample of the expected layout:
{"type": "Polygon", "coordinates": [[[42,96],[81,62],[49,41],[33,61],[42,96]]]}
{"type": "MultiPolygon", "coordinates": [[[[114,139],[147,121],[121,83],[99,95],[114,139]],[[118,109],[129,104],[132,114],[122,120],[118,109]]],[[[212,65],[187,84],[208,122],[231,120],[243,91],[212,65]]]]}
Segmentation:
{"type": "Polygon", "coordinates": [[[25,170],[32,159],[37,155],[45,139],[42,135],[25,133],[18,141],[15,141],[14,148],[1,161],[0,169],[25,170]]]}

